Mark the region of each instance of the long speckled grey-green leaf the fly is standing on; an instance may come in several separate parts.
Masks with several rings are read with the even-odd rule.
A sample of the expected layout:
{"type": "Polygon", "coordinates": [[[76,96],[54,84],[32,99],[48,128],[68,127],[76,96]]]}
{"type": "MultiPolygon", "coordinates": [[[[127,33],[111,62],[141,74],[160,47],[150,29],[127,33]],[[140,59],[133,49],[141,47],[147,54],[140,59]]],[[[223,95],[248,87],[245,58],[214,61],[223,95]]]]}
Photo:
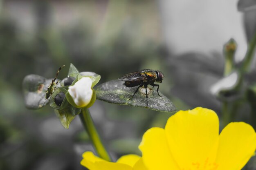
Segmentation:
{"type": "Polygon", "coordinates": [[[136,87],[126,87],[123,81],[112,80],[103,84],[100,84],[95,88],[97,99],[114,103],[114,104],[128,104],[130,106],[150,108],[152,110],[164,111],[164,112],[173,112],[176,111],[173,103],[165,97],[162,93],[159,92],[160,97],[157,94],[156,88],[148,86],[151,92],[148,91],[148,106],[146,106],[146,94],[144,94],[144,87],[141,87],[138,92],[132,97],[135,93],[136,87]],[[132,99],[130,99],[132,97],[132,99]],[[130,100],[129,100],[130,99],[130,100]]]}

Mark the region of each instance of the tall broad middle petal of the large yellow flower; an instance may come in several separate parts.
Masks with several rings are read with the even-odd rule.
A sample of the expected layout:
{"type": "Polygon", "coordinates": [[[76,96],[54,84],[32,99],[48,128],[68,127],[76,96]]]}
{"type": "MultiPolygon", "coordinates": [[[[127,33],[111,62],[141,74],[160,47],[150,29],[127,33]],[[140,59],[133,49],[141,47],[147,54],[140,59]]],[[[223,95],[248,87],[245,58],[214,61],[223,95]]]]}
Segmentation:
{"type": "Polygon", "coordinates": [[[204,169],[207,162],[215,160],[219,120],[213,110],[198,107],[179,111],[168,119],[165,132],[180,169],[204,169]]]}

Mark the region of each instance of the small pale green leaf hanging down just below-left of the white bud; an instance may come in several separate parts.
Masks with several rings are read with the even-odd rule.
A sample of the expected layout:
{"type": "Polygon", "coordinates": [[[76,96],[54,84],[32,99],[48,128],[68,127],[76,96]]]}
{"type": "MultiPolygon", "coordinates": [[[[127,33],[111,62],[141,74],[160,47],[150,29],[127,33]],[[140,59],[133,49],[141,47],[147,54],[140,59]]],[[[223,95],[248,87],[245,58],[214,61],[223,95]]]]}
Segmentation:
{"type": "Polygon", "coordinates": [[[80,108],[68,107],[64,110],[54,109],[57,117],[60,119],[61,124],[64,128],[68,129],[71,121],[74,119],[75,115],[81,113],[80,108]]]}

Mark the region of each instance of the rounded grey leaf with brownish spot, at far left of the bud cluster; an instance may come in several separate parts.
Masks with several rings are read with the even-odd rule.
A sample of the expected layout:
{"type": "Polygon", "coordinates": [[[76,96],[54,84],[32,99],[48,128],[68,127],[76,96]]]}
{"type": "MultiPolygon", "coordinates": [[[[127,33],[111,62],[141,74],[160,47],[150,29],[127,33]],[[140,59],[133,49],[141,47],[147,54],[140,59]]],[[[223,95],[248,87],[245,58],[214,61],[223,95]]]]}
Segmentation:
{"type": "Polygon", "coordinates": [[[49,99],[45,98],[45,93],[51,83],[52,79],[46,79],[45,77],[34,74],[27,75],[22,83],[25,106],[30,109],[38,109],[48,104],[49,99]]]}

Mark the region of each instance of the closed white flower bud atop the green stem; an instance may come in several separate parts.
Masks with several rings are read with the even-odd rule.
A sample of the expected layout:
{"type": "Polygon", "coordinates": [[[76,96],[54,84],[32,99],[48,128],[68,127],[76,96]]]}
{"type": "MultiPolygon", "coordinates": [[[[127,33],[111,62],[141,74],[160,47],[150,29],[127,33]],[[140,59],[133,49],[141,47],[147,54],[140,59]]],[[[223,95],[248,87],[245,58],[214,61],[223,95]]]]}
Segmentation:
{"type": "Polygon", "coordinates": [[[87,106],[92,99],[92,79],[82,77],[73,86],[69,86],[68,92],[77,106],[87,106]]]}

